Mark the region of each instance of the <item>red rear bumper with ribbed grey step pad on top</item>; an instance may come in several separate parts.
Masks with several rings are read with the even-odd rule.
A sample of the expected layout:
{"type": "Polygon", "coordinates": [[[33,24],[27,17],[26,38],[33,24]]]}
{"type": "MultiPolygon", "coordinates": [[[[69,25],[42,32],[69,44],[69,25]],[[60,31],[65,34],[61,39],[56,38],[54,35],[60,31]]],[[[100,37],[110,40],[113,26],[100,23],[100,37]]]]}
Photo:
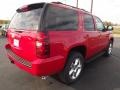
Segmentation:
{"type": "Polygon", "coordinates": [[[8,58],[11,63],[18,66],[20,69],[35,75],[35,76],[48,76],[61,71],[64,67],[64,59],[62,56],[55,56],[46,59],[35,59],[29,62],[20,56],[16,55],[12,50],[11,46],[7,44],[5,46],[8,58]]]}

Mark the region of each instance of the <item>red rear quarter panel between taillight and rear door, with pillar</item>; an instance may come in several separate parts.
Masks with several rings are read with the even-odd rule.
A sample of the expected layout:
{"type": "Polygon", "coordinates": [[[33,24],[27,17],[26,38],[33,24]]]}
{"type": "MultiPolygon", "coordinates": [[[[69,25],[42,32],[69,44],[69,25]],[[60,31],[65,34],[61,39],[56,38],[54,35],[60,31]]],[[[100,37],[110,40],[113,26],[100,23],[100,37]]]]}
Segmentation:
{"type": "Polygon", "coordinates": [[[82,31],[82,17],[80,13],[78,19],[78,30],[59,30],[48,32],[50,37],[50,56],[54,57],[61,55],[64,57],[61,61],[63,62],[63,66],[65,65],[67,56],[72,48],[87,44],[85,39],[86,34],[82,31]]]}

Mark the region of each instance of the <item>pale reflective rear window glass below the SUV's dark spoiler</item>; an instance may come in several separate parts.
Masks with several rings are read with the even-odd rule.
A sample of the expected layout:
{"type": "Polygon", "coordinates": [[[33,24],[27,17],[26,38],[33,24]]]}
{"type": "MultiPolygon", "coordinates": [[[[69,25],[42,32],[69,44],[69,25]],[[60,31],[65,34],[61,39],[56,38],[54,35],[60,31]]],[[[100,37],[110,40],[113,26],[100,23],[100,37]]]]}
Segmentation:
{"type": "Polygon", "coordinates": [[[22,30],[37,30],[42,8],[26,12],[17,12],[13,17],[9,28],[22,30]]]}

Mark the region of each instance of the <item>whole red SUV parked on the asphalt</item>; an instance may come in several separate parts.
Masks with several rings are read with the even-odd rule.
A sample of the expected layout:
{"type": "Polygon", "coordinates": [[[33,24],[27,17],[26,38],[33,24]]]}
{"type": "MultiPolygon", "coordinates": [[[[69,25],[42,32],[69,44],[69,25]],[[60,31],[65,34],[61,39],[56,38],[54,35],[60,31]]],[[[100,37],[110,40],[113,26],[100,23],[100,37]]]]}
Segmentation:
{"type": "Polygon", "coordinates": [[[85,62],[112,52],[111,26],[91,13],[62,3],[36,3],[16,10],[5,46],[12,63],[32,75],[57,74],[70,84],[85,62]]]}

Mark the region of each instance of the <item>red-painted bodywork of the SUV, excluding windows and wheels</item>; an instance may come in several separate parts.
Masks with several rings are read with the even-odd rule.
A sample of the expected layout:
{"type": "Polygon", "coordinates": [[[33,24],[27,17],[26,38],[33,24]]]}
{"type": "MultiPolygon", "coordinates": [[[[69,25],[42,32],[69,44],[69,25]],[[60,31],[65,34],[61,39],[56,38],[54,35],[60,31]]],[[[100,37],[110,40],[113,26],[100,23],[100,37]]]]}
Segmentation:
{"type": "MultiPolygon", "coordinates": [[[[51,4],[53,5],[53,4],[51,4]]],[[[7,51],[17,55],[14,57],[7,52],[9,59],[20,69],[33,75],[44,76],[59,73],[64,69],[70,51],[75,47],[84,46],[85,60],[88,60],[98,52],[104,50],[112,35],[109,31],[98,31],[94,22],[94,30],[87,31],[84,28],[85,11],[55,4],[57,7],[73,9],[78,13],[77,30],[21,30],[9,28],[7,32],[7,51]],[[20,58],[18,58],[20,57],[20,58]],[[30,64],[31,67],[24,65],[30,64]]],[[[93,18],[93,21],[94,18],[93,18]]],[[[52,21],[51,21],[52,22],[52,21]]]]}

